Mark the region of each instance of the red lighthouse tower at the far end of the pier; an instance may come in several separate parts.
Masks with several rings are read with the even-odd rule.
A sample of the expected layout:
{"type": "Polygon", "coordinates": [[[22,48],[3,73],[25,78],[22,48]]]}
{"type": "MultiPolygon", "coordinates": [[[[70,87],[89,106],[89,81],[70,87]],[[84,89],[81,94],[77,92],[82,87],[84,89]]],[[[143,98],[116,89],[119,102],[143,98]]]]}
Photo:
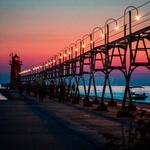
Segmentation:
{"type": "Polygon", "coordinates": [[[11,72],[10,72],[10,83],[12,88],[17,88],[19,80],[20,80],[20,71],[21,71],[21,65],[22,61],[20,61],[20,57],[15,54],[11,54],[10,58],[10,66],[11,66],[11,72]]]}

